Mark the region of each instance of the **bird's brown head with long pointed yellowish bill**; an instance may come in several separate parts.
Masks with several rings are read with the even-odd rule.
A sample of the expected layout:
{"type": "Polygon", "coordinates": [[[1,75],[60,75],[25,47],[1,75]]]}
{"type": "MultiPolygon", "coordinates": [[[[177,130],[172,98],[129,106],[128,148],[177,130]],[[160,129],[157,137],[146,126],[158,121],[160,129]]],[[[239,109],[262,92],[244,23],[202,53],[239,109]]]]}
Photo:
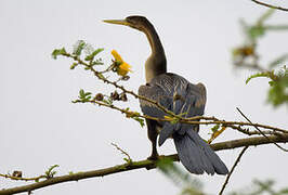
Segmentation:
{"type": "Polygon", "coordinates": [[[150,23],[148,22],[148,20],[146,17],[140,16],[140,15],[128,16],[125,20],[105,20],[103,22],[110,23],[110,24],[130,26],[131,28],[135,28],[140,31],[144,31],[145,28],[148,25],[150,25],[150,23]]]}

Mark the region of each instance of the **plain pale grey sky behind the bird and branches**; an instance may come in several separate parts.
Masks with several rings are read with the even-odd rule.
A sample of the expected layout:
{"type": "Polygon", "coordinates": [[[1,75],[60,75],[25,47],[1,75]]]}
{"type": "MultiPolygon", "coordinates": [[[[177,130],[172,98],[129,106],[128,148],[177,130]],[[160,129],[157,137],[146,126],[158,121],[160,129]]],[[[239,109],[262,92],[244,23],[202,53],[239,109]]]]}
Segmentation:
{"type": "MultiPolygon", "coordinates": [[[[269,2],[269,1],[267,1],[269,2]]],[[[282,1],[273,1],[275,4],[282,1]]],[[[283,3],[288,6],[288,3],[283,3]]],[[[122,164],[123,156],[112,142],[126,150],[133,160],[150,153],[146,128],[104,107],[71,104],[79,89],[105,91],[87,72],[69,70],[67,58],[52,60],[51,52],[70,49],[79,39],[110,61],[116,49],[133,67],[128,88],[145,83],[144,63],[149,55],[146,37],[123,26],[108,25],[107,18],[144,15],[154,24],[168,58],[169,72],[191,82],[204,82],[208,90],[206,116],[245,120],[236,107],[254,122],[287,129],[287,108],[265,104],[267,79],[245,79],[249,70],[232,66],[231,50],[243,42],[238,21],[254,22],[266,9],[250,1],[0,1],[0,172],[22,170],[24,177],[39,176],[51,165],[60,165],[58,176],[122,164]]],[[[287,24],[288,13],[276,12],[272,24],[287,24]]],[[[287,52],[288,32],[271,32],[262,39],[261,62],[287,52]]],[[[136,100],[126,106],[139,110],[136,100]]],[[[208,138],[208,127],[201,127],[208,138]]],[[[215,142],[244,138],[226,130],[215,142]]],[[[286,146],[287,147],[287,146],[286,146]]],[[[160,154],[175,153],[172,141],[160,154]]],[[[218,152],[228,169],[240,150],[218,152]]],[[[249,185],[253,179],[275,179],[287,186],[288,156],[274,145],[250,147],[236,168],[225,192],[249,185]]],[[[180,164],[178,164],[180,165],[180,164]]],[[[181,166],[182,167],[182,166],[181,166]]],[[[205,192],[217,194],[225,177],[193,176],[205,192]]],[[[0,178],[0,188],[28,184],[0,178]]],[[[171,194],[180,192],[158,170],[133,170],[104,178],[58,184],[34,192],[50,194],[171,194]]]]}

